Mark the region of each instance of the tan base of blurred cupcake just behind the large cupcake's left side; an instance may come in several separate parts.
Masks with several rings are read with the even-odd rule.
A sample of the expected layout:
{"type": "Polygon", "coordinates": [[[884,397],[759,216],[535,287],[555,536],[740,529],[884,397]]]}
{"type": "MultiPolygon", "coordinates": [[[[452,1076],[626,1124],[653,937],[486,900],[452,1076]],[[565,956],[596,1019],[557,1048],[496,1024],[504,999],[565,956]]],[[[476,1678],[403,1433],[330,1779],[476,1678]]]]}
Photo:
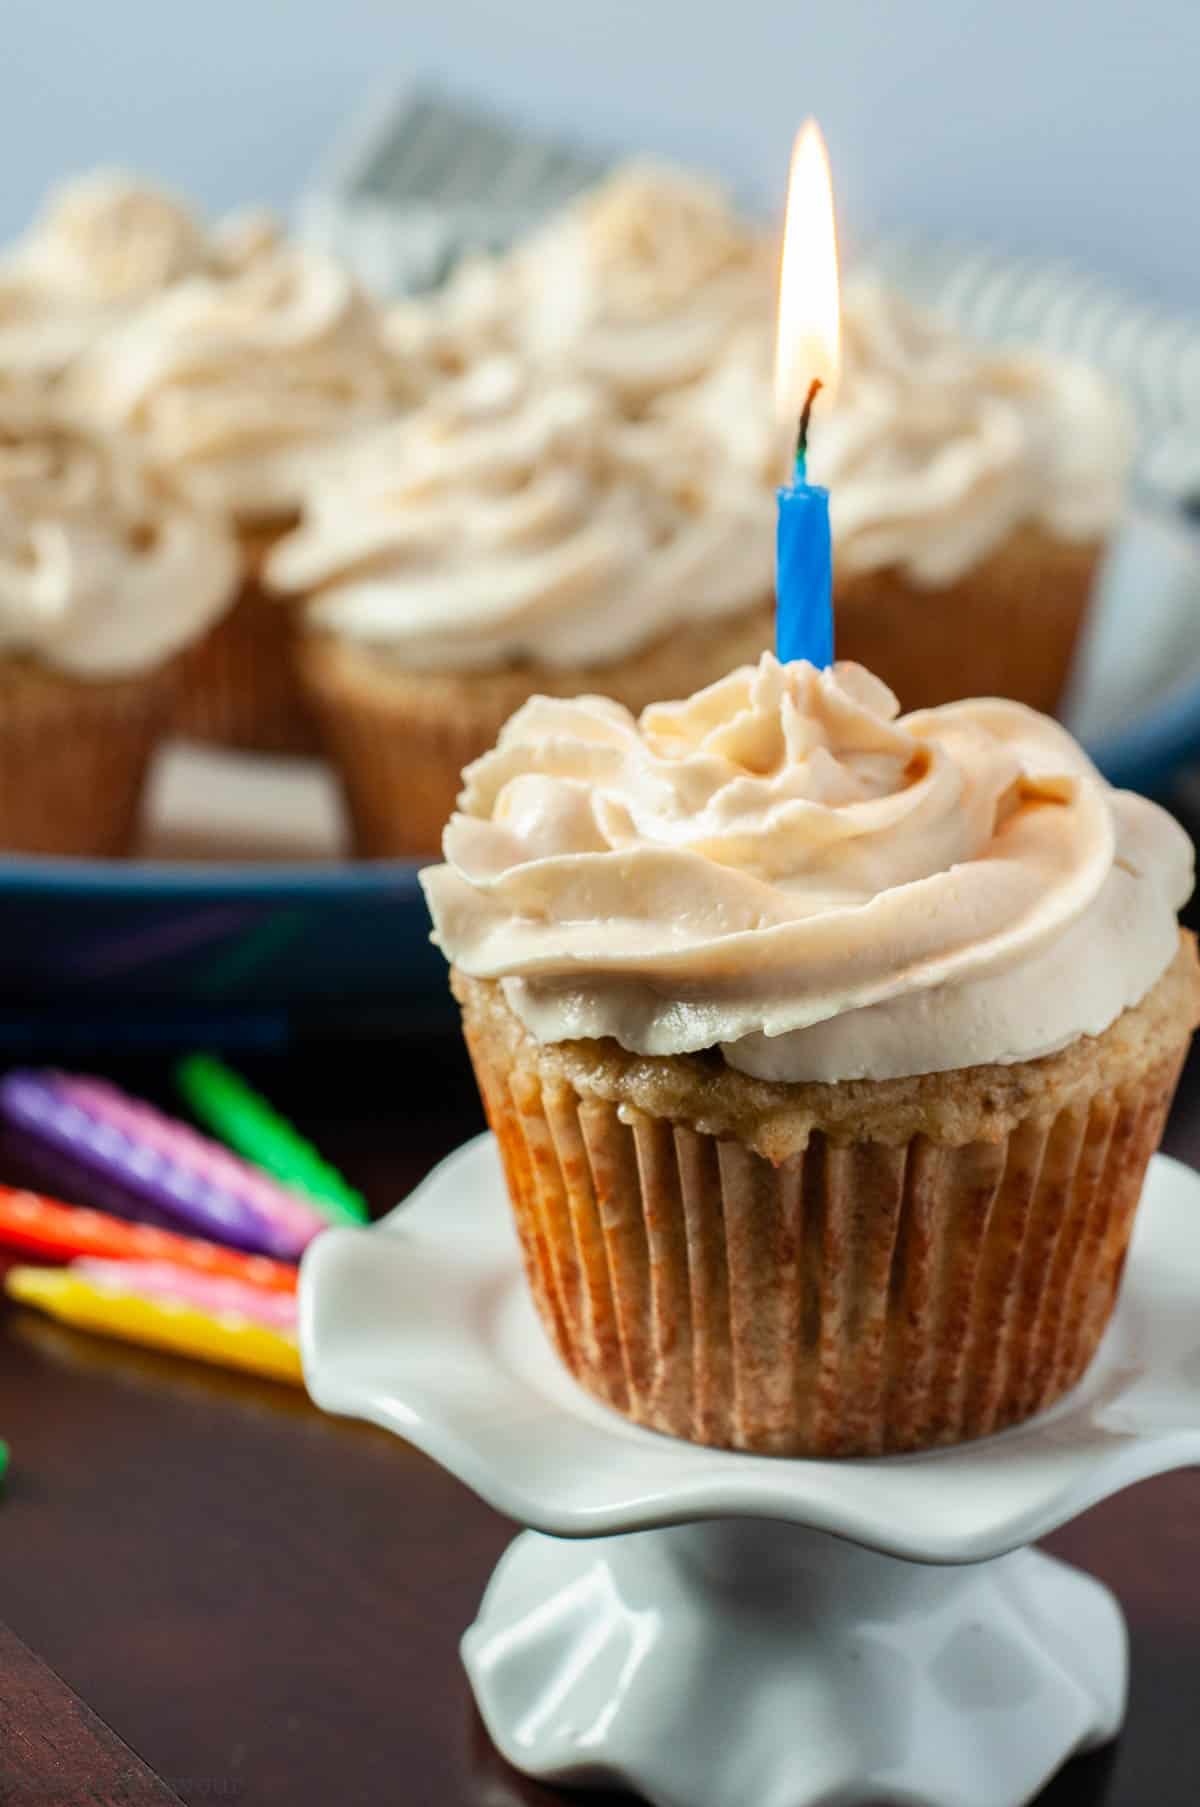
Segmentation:
{"type": "Polygon", "coordinates": [[[613,665],[407,670],[385,651],[305,634],[298,669],[342,777],[358,851],[419,858],[441,846],[463,768],[495,746],[508,717],[531,696],[591,692],[636,714],[752,663],[772,638],[773,602],[763,600],[698,629],[680,627],[613,665]]]}

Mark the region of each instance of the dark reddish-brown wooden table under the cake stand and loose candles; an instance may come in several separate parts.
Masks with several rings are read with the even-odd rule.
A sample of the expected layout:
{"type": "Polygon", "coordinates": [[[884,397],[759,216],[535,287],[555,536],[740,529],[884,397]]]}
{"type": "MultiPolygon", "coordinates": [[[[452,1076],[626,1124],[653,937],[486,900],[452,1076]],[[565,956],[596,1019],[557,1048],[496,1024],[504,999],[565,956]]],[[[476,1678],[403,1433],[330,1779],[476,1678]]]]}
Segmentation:
{"type": "MultiPolygon", "coordinates": [[[[457,1037],[240,1063],[376,1211],[479,1128],[457,1037]]],[[[146,1095],[164,1063],[107,1070],[146,1095]]],[[[1167,1147],[1200,1166],[1200,1061],[1167,1147]]],[[[18,1178],[4,1167],[0,1176],[18,1178]]],[[[1198,1306],[1200,1308],[1200,1306],[1198,1306]]],[[[457,1659],[511,1527],[298,1393],[0,1321],[0,1807],[549,1807],[490,1747],[457,1659]]],[[[1050,1540],[1120,1596],[1128,1727],[1043,1807],[1200,1798],[1200,1473],[1050,1540]]],[[[746,1802],[746,1807],[755,1807],[746,1802]]]]}

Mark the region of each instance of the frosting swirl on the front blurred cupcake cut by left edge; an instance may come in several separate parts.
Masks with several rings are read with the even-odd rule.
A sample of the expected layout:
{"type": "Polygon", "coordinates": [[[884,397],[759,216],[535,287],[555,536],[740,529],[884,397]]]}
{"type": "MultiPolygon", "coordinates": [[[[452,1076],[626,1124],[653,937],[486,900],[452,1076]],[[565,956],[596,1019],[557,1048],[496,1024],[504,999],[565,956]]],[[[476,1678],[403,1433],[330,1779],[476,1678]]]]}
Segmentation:
{"type": "Polygon", "coordinates": [[[172,497],[130,446],[49,403],[0,398],[0,656],[132,676],[231,600],[222,520],[172,497]]]}

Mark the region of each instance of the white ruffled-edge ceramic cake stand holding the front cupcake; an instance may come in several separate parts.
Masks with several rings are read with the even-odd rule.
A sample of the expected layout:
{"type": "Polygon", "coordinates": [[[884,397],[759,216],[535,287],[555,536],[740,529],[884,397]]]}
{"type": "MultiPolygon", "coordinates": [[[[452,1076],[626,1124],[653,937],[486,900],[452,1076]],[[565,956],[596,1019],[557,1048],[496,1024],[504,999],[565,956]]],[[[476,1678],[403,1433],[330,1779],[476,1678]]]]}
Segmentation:
{"type": "Polygon", "coordinates": [[[320,1406],[535,1527],[463,1639],[519,1769],[656,1807],[1017,1807],[1120,1727],[1117,1601],[1027,1545],[1200,1462],[1191,1169],[1155,1160],[1084,1382],[922,1456],[739,1456],[595,1404],[533,1315],[488,1137],[374,1231],[322,1236],[300,1315],[320,1406]]]}

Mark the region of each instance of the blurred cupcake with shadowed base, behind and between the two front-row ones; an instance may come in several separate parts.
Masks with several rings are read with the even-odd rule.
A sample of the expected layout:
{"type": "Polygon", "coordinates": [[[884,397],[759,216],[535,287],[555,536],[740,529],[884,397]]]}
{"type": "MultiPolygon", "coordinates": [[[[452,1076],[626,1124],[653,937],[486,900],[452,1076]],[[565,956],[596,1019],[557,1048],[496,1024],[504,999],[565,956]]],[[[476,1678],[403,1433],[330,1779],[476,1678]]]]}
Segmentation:
{"type": "Polygon", "coordinates": [[[134,434],[177,488],[237,526],[242,589],[186,661],[181,732],[262,752],[314,744],[262,564],[313,472],[396,407],[398,383],[345,269],[267,235],[231,269],[150,300],[74,369],[85,417],[134,434]]]}

